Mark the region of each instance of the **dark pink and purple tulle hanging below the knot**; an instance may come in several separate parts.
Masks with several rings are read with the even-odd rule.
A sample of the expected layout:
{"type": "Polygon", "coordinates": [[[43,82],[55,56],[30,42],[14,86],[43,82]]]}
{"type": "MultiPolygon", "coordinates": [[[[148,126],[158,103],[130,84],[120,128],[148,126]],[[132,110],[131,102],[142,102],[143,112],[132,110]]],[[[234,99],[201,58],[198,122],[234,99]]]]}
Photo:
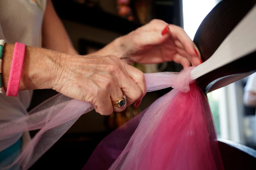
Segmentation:
{"type": "Polygon", "coordinates": [[[193,83],[162,96],[103,139],[83,169],[223,169],[205,94],[193,83]]]}

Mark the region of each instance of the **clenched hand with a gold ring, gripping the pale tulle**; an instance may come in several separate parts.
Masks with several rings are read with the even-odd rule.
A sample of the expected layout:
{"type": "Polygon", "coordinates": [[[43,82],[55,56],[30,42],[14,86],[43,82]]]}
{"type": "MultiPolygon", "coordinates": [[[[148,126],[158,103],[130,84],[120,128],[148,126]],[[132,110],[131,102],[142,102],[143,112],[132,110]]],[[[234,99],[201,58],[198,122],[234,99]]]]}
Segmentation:
{"type": "Polygon", "coordinates": [[[123,111],[111,101],[125,94],[127,105],[146,94],[144,74],[116,56],[66,55],[57,61],[57,78],[53,89],[71,98],[90,102],[96,112],[109,115],[123,111]]]}

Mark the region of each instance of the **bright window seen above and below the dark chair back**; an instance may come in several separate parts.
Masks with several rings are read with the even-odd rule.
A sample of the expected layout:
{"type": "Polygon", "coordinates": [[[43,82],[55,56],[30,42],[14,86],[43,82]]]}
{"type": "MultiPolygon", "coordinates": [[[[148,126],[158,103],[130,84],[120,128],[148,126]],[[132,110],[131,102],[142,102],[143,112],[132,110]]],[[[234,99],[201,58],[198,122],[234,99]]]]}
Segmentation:
{"type": "MultiPolygon", "coordinates": [[[[202,20],[218,2],[219,0],[182,1],[184,30],[191,39],[194,39],[195,33],[202,20]]],[[[228,87],[223,87],[207,94],[217,135],[218,138],[222,139],[230,139],[227,89],[228,87]]]]}

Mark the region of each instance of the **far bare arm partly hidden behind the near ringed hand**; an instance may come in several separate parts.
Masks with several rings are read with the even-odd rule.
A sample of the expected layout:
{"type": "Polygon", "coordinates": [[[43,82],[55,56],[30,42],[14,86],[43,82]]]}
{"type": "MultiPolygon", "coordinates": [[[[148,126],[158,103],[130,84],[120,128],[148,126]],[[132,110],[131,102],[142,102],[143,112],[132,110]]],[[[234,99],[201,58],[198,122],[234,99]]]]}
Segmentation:
{"type": "MultiPolygon", "coordinates": [[[[42,45],[44,48],[62,53],[78,54],[78,52],[74,49],[61,20],[56,14],[51,1],[47,1],[46,11],[42,24],[42,37],[42,45]]],[[[106,56],[112,54],[129,63],[127,56],[125,55],[126,52],[124,50],[124,37],[125,36],[119,37],[97,52],[87,55],[106,56]]]]}

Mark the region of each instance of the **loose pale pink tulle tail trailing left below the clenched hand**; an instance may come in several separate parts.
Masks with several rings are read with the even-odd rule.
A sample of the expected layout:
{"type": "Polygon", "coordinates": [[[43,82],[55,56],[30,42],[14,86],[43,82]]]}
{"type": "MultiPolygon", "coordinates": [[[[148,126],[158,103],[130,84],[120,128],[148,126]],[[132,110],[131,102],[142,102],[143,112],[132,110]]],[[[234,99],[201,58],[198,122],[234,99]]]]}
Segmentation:
{"type": "Polygon", "coordinates": [[[23,118],[1,123],[0,139],[23,131],[40,130],[27,145],[21,148],[21,154],[13,163],[7,159],[0,164],[0,169],[28,169],[83,113],[92,109],[90,103],[58,94],[34,108],[23,118]]]}

